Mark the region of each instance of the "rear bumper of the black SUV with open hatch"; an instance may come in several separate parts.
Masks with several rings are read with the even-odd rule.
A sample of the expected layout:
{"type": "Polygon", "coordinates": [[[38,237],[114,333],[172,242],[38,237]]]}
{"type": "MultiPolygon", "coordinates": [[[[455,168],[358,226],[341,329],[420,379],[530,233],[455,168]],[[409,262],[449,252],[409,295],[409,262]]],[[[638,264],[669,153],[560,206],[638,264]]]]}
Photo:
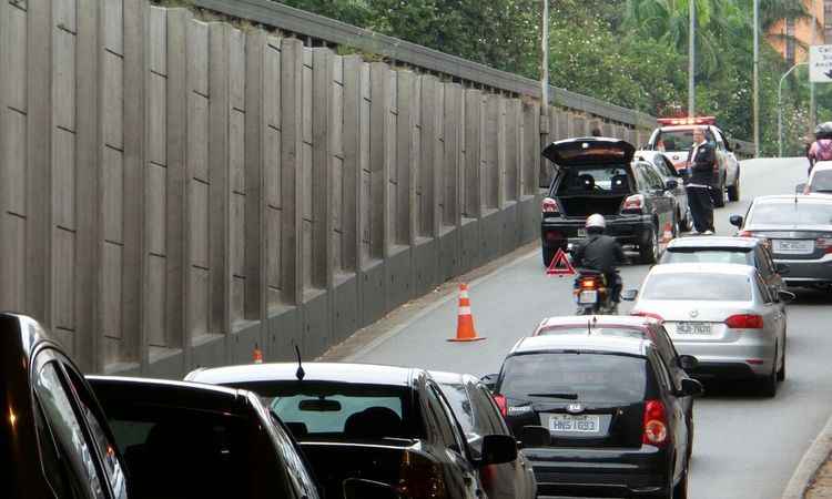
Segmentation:
{"type": "MultiPolygon", "coordinates": [[[[578,230],[584,228],[584,218],[544,218],[540,224],[540,241],[544,247],[567,248],[568,244],[580,243],[578,230]]],[[[619,244],[641,244],[646,241],[653,222],[650,215],[627,215],[607,218],[606,235],[615,237],[619,244]]]]}

